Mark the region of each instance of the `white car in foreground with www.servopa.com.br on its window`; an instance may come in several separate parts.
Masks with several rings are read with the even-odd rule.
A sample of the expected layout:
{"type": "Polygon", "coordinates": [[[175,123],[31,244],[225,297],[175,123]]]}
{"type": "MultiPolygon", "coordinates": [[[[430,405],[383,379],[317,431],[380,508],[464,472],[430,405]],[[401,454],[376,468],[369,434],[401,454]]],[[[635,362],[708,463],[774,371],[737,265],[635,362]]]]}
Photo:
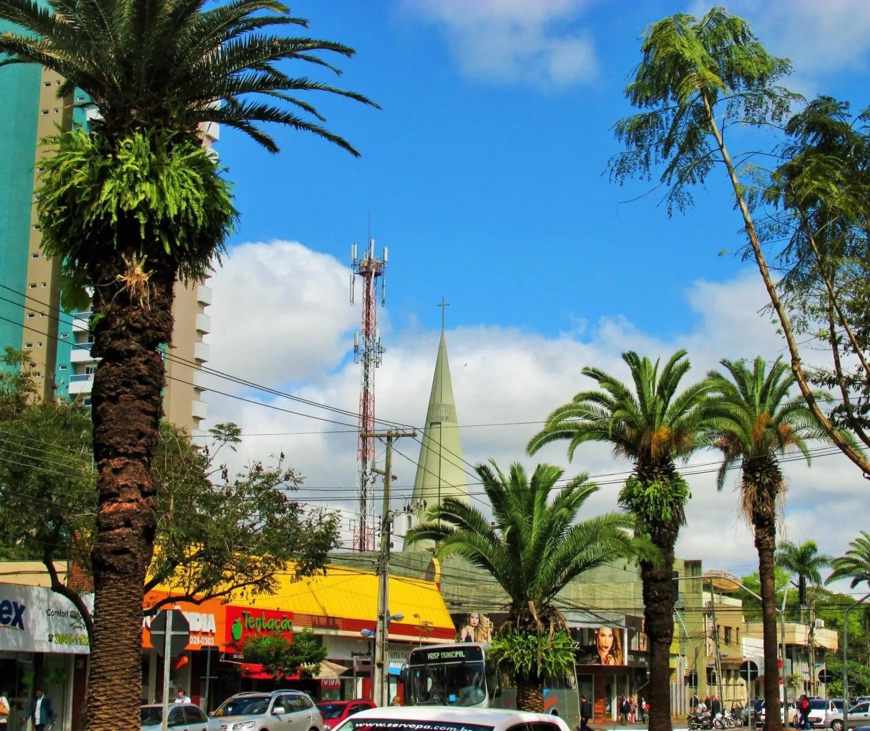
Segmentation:
{"type": "Polygon", "coordinates": [[[392,706],[352,715],[335,731],[571,731],[553,714],[495,708],[392,706]]]}

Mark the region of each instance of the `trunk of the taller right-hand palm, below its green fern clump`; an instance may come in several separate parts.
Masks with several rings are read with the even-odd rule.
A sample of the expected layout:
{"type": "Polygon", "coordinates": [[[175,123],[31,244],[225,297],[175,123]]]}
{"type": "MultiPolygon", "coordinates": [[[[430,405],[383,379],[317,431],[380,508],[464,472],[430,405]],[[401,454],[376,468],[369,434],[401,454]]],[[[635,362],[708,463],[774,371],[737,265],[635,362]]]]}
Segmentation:
{"type": "Polygon", "coordinates": [[[644,619],[650,648],[649,731],[671,731],[671,643],[673,642],[673,547],[677,530],[653,531],[653,543],[664,559],[661,567],[641,561],[644,619]]]}

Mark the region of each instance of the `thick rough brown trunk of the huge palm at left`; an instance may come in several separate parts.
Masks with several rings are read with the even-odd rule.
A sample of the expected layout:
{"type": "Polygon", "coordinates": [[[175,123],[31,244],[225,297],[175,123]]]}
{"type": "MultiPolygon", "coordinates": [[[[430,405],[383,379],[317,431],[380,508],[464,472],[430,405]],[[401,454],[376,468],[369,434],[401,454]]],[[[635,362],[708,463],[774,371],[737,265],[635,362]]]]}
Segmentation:
{"type": "Polygon", "coordinates": [[[94,296],[93,354],[102,360],[91,392],[99,507],[87,728],[137,731],[144,580],[157,528],[151,455],[163,415],[157,347],[171,338],[175,277],[156,273],[145,296],[112,273],[124,275],[124,266],[94,296]]]}

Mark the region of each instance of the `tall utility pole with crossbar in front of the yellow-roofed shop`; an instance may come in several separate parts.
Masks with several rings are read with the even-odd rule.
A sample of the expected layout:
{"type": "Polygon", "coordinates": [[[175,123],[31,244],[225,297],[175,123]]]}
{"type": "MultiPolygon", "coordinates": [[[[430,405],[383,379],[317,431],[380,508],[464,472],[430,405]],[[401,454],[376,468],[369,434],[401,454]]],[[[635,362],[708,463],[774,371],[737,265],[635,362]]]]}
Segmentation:
{"type": "MultiPolygon", "coordinates": [[[[381,515],[381,547],[378,557],[378,626],[375,630],[375,657],[371,668],[371,700],[378,706],[387,706],[390,683],[387,680],[387,640],[390,625],[390,488],[392,485],[392,441],[402,437],[416,437],[417,432],[366,432],[367,439],[386,439],[384,459],[384,508],[381,515]]],[[[378,472],[380,472],[378,470],[378,472]]]]}

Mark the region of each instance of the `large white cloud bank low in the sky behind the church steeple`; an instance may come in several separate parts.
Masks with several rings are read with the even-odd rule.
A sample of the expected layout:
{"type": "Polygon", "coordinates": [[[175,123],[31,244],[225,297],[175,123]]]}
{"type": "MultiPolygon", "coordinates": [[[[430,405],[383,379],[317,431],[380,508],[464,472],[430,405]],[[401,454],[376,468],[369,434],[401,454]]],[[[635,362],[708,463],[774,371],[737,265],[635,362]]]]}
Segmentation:
{"type": "MultiPolygon", "coordinates": [[[[226,269],[214,278],[214,328],[221,336],[212,345],[214,361],[225,370],[244,373],[249,378],[271,385],[292,378],[304,385],[295,393],[305,399],[356,412],[358,409],[358,366],[344,361],[349,352],[355,315],[338,296],[346,285],[346,270],[335,259],[316,254],[304,246],[275,242],[270,245],[244,245],[234,251],[226,269]],[[284,264],[280,264],[284,262],[284,264]],[[308,262],[305,292],[293,292],[291,280],[281,272],[308,262]],[[236,267],[236,269],[234,269],[236,267]],[[249,272],[243,276],[244,272],[249,272]],[[269,272],[272,272],[270,274],[269,272]],[[224,280],[225,281],[222,281],[224,280]],[[250,298],[239,289],[250,280],[250,298]],[[253,290],[257,290],[254,292],[253,290]],[[225,300],[225,301],[224,301],[225,300]],[[253,325],[261,317],[258,308],[281,302],[277,317],[263,315],[263,325],[253,325]],[[335,305],[338,302],[338,307],[335,305]],[[341,309],[339,309],[339,307],[341,309]],[[218,312],[232,313],[237,325],[223,325],[218,312]],[[307,325],[299,325],[300,322],[307,325]],[[245,325],[247,324],[247,325],[245,325]],[[273,339],[268,357],[260,357],[251,347],[251,328],[259,339],[273,339]],[[256,366],[256,370],[254,370],[256,366]],[[331,369],[325,373],[325,370],[331,369]],[[254,373],[257,375],[255,376],[254,373]]],[[[247,291],[245,291],[247,292],[247,291]]],[[[573,464],[566,464],[565,447],[549,446],[535,458],[525,457],[525,443],[539,422],[555,406],[571,399],[575,392],[591,386],[580,375],[586,365],[599,366],[627,377],[620,353],[634,349],[653,357],[666,357],[677,348],[686,348],[693,362],[690,378],[701,378],[715,367],[719,358],[752,358],[760,354],[772,359],[781,354],[781,340],[769,317],[760,313],[765,294],[758,275],[746,275],[726,283],[696,282],[686,292],[686,306],[697,316],[691,331],[663,341],[639,332],[626,319],[614,317],[587,328],[586,339],[574,333],[548,338],[497,326],[458,328],[448,332],[448,348],[453,388],[462,428],[465,459],[474,464],[494,457],[500,464],[519,459],[527,465],[538,461],[565,464],[569,474],[588,471],[599,475],[601,491],[590,502],[590,510],[603,512],[616,505],[619,483],[630,468],[615,462],[605,446],[590,445],[579,450],[573,464]],[[471,425],[511,426],[471,426],[471,425]],[[609,477],[607,475],[610,475],[609,477]]],[[[437,332],[396,332],[386,343],[384,365],[377,372],[377,409],[381,417],[405,424],[419,424],[425,417],[426,401],[432,384],[432,369],[438,348],[437,332]]],[[[812,353],[807,353],[811,355],[812,353]]],[[[222,384],[224,389],[231,385],[222,384]]],[[[240,459],[264,458],[284,451],[293,466],[306,476],[301,499],[352,509],[356,484],[355,419],[340,414],[299,406],[287,399],[264,400],[280,409],[306,412],[341,424],[280,412],[264,406],[241,403],[211,394],[211,418],[233,420],[247,434],[264,434],[244,439],[240,459]],[[344,426],[343,426],[344,425],[344,426]],[[333,433],[338,431],[339,433],[333,433]],[[305,434],[285,434],[314,432],[305,434]],[[272,435],[274,433],[282,433],[272,435]]],[[[419,445],[411,439],[397,444],[393,472],[399,506],[409,496],[415,473],[419,445]]],[[[678,553],[685,558],[702,559],[709,567],[735,573],[750,573],[755,550],[745,522],[737,513],[732,486],[717,493],[712,468],[716,455],[699,454],[688,473],[693,500],[688,506],[688,524],[679,540],[678,553]]],[[[808,469],[799,461],[786,463],[789,493],[785,526],[793,540],[813,538],[826,553],[839,554],[863,525],[867,483],[845,458],[816,459],[808,469]],[[836,530],[830,526],[836,525],[836,530]]],[[[472,481],[473,478],[470,478],[472,481]]],[[[478,493],[479,487],[472,487],[478,493]]]]}

